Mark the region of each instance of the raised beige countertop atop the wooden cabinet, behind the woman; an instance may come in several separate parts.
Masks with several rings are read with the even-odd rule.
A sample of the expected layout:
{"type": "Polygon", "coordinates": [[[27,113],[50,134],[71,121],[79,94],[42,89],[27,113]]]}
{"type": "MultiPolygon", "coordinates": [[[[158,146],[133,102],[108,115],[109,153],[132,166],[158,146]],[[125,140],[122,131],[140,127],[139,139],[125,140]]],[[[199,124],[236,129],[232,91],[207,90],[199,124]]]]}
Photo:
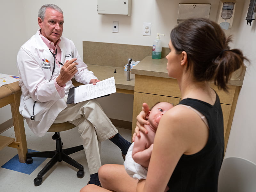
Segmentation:
{"type": "MultiPolygon", "coordinates": [[[[145,76],[155,76],[170,78],[166,70],[167,59],[152,59],[151,56],[145,57],[131,70],[134,75],[145,75],[145,76]]],[[[244,80],[246,67],[241,68],[234,72],[228,84],[235,86],[242,86],[244,80]]]]}

